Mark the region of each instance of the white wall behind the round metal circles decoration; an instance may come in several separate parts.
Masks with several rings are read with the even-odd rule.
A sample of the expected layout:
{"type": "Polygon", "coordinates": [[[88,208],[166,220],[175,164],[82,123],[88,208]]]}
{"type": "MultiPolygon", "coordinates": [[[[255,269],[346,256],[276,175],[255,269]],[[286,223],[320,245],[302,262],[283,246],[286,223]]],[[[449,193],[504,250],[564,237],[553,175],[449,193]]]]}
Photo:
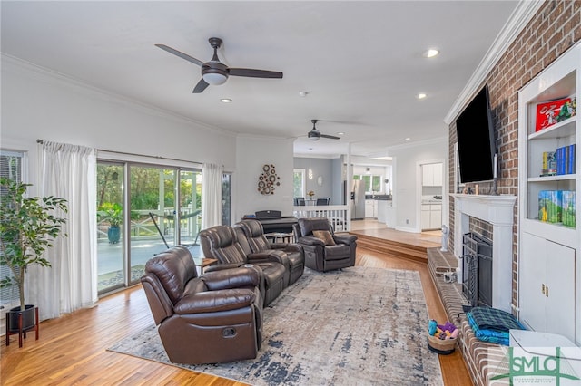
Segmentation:
{"type": "Polygon", "coordinates": [[[235,177],[232,195],[235,209],[232,221],[240,221],[244,215],[257,210],[281,210],[283,216],[292,216],[292,139],[269,139],[240,136],[237,140],[235,177]],[[258,191],[259,176],[264,164],[274,165],[281,178],[281,186],[274,194],[263,195],[258,191]]]}

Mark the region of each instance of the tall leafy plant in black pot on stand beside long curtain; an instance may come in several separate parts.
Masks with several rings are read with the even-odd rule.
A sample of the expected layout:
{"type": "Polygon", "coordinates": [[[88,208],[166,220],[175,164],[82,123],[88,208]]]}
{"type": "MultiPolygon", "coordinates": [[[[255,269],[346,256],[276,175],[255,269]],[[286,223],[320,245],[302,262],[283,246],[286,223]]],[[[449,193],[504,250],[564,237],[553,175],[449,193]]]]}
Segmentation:
{"type": "Polygon", "coordinates": [[[0,280],[0,287],[18,287],[20,306],[12,308],[7,317],[11,318],[11,326],[18,326],[18,314],[22,312],[23,330],[34,327],[35,319],[34,305],[25,304],[26,269],[29,265],[51,266],[43,253],[62,235],[66,219],[59,214],[67,212],[64,198],[26,197],[29,186],[31,184],[0,178],[0,265],[12,272],[12,276],[0,280]]]}

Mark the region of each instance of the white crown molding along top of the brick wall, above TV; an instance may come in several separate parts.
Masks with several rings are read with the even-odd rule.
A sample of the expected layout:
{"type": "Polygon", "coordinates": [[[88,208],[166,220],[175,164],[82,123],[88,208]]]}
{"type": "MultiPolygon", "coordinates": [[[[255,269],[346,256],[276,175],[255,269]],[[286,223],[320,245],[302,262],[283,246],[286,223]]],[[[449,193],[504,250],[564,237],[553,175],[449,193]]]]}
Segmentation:
{"type": "Polygon", "coordinates": [[[497,38],[488,49],[486,55],[484,55],[484,58],[478,64],[476,71],[472,73],[464,90],[460,92],[458,99],[454,102],[452,108],[444,118],[448,126],[458,116],[460,111],[462,111],[462,108],[474,93],[478,91],[482,82],[486,80],[488,73],[492,71],[502,55],[507,52],[508,46],[515,41],[517,35],[522,32],[543,4],[545,4],[545,0],[523,0],[518,3],[517,8],[511,14],[507,24],[504,25],[497,35],[497,38]]]}

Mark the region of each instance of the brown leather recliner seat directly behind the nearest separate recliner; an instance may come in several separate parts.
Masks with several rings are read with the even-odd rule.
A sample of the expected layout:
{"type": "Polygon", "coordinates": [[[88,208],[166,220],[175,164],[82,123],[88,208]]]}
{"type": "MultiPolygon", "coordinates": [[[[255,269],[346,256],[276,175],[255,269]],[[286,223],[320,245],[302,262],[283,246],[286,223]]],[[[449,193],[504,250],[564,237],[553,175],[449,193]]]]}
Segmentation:
{"type": "Polygon", "coordinates": [[[264,306],[281,294],[289,283],[289,258],[281,251],[264,251],[251,253],[246,251],[239,242],[245,240],[240,228],[230,226],[215,226],[200,232],[200,244],[204,256],[215,258],[218,265],[206,268],[206,272],[229,269],[241,265],[254,265],[260,269],[263,278],[264,306]]]}

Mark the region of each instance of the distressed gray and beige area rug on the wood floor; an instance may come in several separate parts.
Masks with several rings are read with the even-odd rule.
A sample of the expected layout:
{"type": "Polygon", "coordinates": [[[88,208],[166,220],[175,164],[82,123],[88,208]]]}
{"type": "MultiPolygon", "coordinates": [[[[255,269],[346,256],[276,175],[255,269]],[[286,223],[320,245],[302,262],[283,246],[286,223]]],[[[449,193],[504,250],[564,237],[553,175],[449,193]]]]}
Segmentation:
{"type": "Polygon", "coordinates": [[[441,385],[427,331],[418,272],[354,266],[305,269],[264,310],[255,360],[171,363],[154,326],[109,350],[253,385],[441,385]]]}

